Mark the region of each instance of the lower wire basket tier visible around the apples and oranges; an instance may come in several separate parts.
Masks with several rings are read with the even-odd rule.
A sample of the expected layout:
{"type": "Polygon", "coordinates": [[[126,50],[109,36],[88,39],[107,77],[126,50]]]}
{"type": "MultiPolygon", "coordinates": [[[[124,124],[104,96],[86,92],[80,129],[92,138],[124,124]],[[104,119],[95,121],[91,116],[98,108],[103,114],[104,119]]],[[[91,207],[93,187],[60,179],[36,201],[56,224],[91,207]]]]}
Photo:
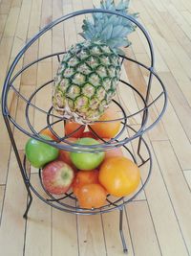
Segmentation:
{"type": "MultiPolygon", "coordinates": [[[[47,204],[54,208],[73,214],[81,215],[96,215],[100,213],[107,213],[117,208],[122,208],[126,203],[130,202],[134,198],[140,197],[140,192],[143,193],[143,188],[147,183],[152,170],[152,157],[151,151],[143,138],[134,140],[131,144],[123,147],[123,153],[129,159],[133,160],[138,164],[140,170],[141,182],[138,186],[137,191],[129,195],[128,197],[116,198],[111,195],[107,196],[106,204],[100,208],[84,209],[80,208],[77,198],[75,198],[72,190],[66,194],[55,196],[51,195],[43,186],[41,169],[36,170],[30,167],[26,156],[24,157],[23,167],[26,185],[30,187],[32,192],[47,204]],[[33,175],[38,175],[37,181],[33,181],[33,175]]],[[[144,196],[144,195],[142,195],[144,196]]]]}

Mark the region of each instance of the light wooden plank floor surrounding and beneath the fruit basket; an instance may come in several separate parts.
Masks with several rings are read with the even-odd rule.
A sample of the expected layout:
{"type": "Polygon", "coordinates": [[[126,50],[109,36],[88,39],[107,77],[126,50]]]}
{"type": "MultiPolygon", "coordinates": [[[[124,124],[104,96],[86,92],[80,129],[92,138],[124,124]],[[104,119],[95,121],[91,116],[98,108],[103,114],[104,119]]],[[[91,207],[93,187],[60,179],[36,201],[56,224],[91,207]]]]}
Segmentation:
{"type": "MultiPolygon", "coordinates": [[[[62,14],[92,6],[91,0],[0,0],[1,89],[12,59],[32,35],[62,14]]],[[[129,256],[191,255],[191,2],[131,0],[131,9],[139,12],[139,21],[152,37],[156,70],[165,83],[169,102],[162,122],[145,137],[154,160],[150,181],[144,193],[126,207],[123,228],[129,256]]],[[[79,39],[76,32],[80,31],[81,19],[67,21],[65,34],[60,26],[44,35],[21,58],[19,68],[37,57],[69,48],[79,39]]],[[[131,40],[133,47],[128,54],[149,63],[148,48],[140,33],[131,35],[131,40]]],[[[56,62],[45,59],[15,81],[15,86],[29,97],[36,83],[52,78],[55,69],[56,62]]],[[[125,69],[123,75],[130,81],[138,81],[141,89],[148,74],[143,70],[135,71],[131,64],[125,65],[125,69]]],[[[154,85],[152,96],[159,89],[157,82],[154,85]]],[[[134,95],[130,95],[132,98],[124,98],[119,92],[120,100],[128,109],[138,107],[134,95]]],[[[48,97],[43,103],[36,97],[36,102],[47,107],[51,99],[48,97]]],[[[161,103],[153,110],[153,118],[159,106],[161,103]]],[[[13,97],[10,108],[17,122],[26,126],[22,119],[22,101],[13,97]]],[[[40,128],[38,114],[33,113],[32,122],[35,128],[40,128]]],[[[132,122],[138,126],[138,119],[132,122]]],[[[0,125],[0,255],[123,255],[117,211],[102,216],[76,217],[51,209],[34,198],[28,221],[22,219],[26,190],[2,116],[0,125]]],[[[16,129],[13,131],[22,154],[26,138],[16,129]]],[[[38,183],[35,171],[32,182],[38,183]]]]}

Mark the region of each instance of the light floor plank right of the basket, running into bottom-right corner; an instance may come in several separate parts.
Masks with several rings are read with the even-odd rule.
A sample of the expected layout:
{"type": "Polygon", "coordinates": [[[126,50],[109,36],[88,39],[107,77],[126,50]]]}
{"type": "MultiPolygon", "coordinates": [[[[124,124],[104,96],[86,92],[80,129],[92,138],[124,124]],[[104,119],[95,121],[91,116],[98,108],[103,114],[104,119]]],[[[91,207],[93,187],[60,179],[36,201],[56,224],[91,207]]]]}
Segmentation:
{"type": "Polygon", "coordinates": [[[157,154],[159,166],[164,176],[169,196],[174,205],[174,209],[180,223],[180,228],[187,244],[189,253],[191,252],[191,197],[189,188],[185,182],[176,155],[169,142],[153,142],[154,150],[157,154]]]}

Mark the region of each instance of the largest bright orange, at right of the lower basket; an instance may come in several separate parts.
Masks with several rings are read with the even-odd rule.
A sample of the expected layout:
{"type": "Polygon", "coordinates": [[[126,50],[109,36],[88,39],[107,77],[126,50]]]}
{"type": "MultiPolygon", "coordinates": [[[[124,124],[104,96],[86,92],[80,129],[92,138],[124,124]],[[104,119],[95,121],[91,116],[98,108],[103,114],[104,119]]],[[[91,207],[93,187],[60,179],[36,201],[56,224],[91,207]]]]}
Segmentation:
{"type": "Polygon", "coordinates": [[[137,190],[140,173],[138,166],[130,159],[116,156],[103,162],[98,179],[109,194],[125,197],[137,190]]]}

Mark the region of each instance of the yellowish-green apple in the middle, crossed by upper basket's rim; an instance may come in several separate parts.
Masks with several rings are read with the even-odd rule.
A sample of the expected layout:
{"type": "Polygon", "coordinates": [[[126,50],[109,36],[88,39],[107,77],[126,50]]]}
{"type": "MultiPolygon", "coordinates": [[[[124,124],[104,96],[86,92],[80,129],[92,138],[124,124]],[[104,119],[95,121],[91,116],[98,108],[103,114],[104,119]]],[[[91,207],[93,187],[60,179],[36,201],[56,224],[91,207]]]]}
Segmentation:
{"type": "MultiPolygon", "coordinates": [[[[75,142],[80,145],[99,144],[93,138],[81,138],[75,142]]],[[[74,166],[79,170],[93,170],[103,161],[104,152],[71,152],[71,160],[74,166]]]]}

